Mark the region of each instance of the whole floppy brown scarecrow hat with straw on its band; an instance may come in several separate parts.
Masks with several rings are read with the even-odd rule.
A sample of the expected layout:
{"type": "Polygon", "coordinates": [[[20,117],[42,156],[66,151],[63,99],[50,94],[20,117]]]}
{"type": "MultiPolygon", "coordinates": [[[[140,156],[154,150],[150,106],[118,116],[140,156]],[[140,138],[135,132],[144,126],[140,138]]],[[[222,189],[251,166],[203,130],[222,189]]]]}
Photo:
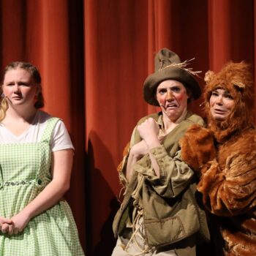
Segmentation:
{"type": "Polygon", "coordinates": [[[164,80],[177,80],[184,84],[192,93],[192,98],[197,99],[201,95],[201,89],[194,75],[200,71],[192,71],[186,68],[188,61],[181,63],[178,55],[173,51],[162,48],[154,58],[154,73],[148,75],[144,82],[144,99],[148,104],[159,106],[155,97],[157,86],[164,80]]]}

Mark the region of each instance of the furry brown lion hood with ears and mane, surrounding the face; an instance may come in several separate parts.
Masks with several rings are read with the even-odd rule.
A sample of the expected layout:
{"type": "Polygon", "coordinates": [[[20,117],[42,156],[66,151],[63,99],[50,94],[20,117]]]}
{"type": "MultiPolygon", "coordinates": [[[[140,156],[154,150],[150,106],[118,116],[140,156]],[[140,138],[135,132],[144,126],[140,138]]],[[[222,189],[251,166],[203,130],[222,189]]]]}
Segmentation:
{"type": "Polygon", "coordinates": [[[241,129],[253,124],[253,80],[249,64],[229,62],[215,74],[206,72],[203,97],[206,102],[208,126],[219,142],[225,141],[241,129]],[[224,90],[233,99],[233,108],[225,120],[217,120],[211,113],[210,98],[214,91],[224,90]]]}

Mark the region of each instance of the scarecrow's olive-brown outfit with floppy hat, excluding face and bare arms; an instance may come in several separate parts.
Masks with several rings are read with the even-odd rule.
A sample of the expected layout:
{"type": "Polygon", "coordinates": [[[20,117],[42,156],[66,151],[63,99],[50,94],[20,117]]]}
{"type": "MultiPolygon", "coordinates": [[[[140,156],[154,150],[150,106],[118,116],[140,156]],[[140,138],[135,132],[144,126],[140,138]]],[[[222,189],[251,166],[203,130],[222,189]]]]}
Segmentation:
{"type": "MultiPolygon", "coordinates": [[[[146,78],[144,99],[158,105],[155,97],[157,86],[164,80],[178,80],[192,93],[200,97],[200,86],[193,77],[187,62],[181,63],[172,51],[164,48],[155,57],[155,72],[146,78]]],[[[162,112],[140,119],[154,118],[163,129],[162,112]]],[[[124,253],[113,255],[195,255],[195,244],[208,241],[206,215],[195,199],[196,178],[194,171],[181,160],[178,140],[192,124],[203,125],[203,119],[189,111],[180,118],[176,127],[168,133],[161,146],[149,149],[159,165],[159,177],[154,172],[149,154],[132,166],[132,176],[125,176],[129,150],[142,138],[135,127],[124,159],[118,166],[119,178],[124,184],[124,200],[113,222],[117,246],[124,253]]]]}

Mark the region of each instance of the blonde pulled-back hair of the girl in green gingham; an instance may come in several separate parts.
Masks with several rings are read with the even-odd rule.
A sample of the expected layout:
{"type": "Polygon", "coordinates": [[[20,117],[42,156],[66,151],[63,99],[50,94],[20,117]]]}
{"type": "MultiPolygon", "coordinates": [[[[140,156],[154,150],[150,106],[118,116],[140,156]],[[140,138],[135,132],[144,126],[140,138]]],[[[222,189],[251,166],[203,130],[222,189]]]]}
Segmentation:
{"type": "MultiPolygon", "coordinates": [[[[41,88],[41,75],[34,65],[32,65],[29,62],[23,62],[23,61],[14,61],[11,62],[10,64],[7,65],[4,69],[4,75],[2,79],[2,84],[4,82],[4,76],[5,74],[12,69],[25,69],[28,71],[31,75],[31,78],[34,79],[34,81],[39,85],[39,93],[37,94],[37,102],[34,103],[34,108],[42,108],[45,105],[44,102],[44,97],[42,96],[42,88],[41,88]]],[[[1,94],[1,99],[0,99],[0,121],[4,119],[5,113],[8,109],[8,102],[7,99],[3,95],[3,89],[2,86],[0,88],[0,94],[1,94]]]]}

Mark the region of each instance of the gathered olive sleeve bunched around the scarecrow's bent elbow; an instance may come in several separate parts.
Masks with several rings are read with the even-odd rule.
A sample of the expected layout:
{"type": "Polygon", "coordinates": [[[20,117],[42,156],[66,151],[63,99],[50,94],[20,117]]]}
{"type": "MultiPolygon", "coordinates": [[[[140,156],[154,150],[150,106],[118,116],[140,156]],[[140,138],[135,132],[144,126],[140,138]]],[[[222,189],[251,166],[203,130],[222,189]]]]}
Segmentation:
{"type": "Polygon", "coordinates": [[[194,171],[181,160],[181,151],[174,157],[167,154],[164,146],[151,148],[153,157],[159,165],[159,177],[156,175],[148,155],[133,166],[133,169],[146,177],[154,190],[162,197],[176,197],[191,182],[194,171]]]}

